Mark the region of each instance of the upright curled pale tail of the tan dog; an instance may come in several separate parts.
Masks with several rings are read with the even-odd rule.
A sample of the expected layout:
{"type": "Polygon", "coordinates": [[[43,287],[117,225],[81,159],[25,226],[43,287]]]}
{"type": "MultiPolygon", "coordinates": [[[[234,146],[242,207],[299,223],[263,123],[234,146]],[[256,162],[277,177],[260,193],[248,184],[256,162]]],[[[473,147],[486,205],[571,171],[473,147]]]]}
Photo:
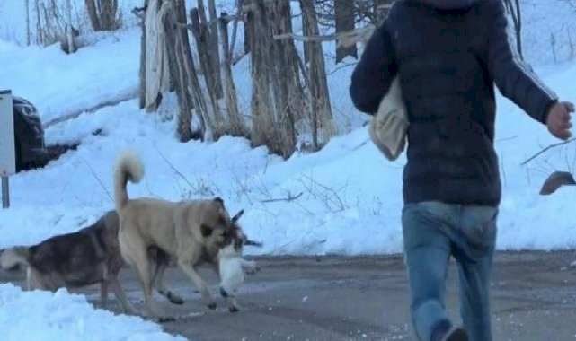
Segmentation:
{"type": "Polygon", "coordinates": [[[120,214],[128,203],[126,185],[130,182],[140,182],[144,176],[144,165],[136,153],[126,151],[120,153],[114,169],[114,202],[116,212],[120,214]]]}

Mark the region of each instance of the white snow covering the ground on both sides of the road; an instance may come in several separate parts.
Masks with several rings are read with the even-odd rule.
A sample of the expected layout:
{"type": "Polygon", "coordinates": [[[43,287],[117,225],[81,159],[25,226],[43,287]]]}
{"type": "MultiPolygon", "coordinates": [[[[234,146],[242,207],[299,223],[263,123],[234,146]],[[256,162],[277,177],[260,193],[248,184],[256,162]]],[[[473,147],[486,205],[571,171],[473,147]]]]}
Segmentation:
{"type": "MultiPolygon", "coordinates": [[[[0,19],[6,17],[2,8],[8,3],[3,4],[0,19]]],[[[536,32],[537,27],[527,26],[525,30],[536,32]]],[[[0,39],[0,89],[12,89],[34,102],[44,122],[123,98],[137,91],[138,44],[137,27],[115,32],[70,56],[58,46],[22,48],[0,39]]],[[[327,53],[331,54],[329,50],[327,53]]],[[[527,53],[534,61],[544,56],[533,46],[527,53]]],[[[561,98],[576,101],[576,64],[550,65],[549,57],[536,64],[536,72],[561,98]]],[[[243,138],[225,136],[217,143],[179,143],[173,120],[176,101],[170,95],[155,114],[137,109],[137,100],[130,100],[48,127],[48,144],[81,144],[44,169],[11,178],[12,206],[0,211],[0,249],[75,231],[113,208],[113,163],[120,151],[130,148],[146,165],[144,180],[128,185],[130,197],[223,197],[232,214],[245,209],[241,220],[244,230],[251,239],[264,243],[261,249],[247,249],[248,253],[401,252],[405,159],[402,156],[387,162],[369,141],[366,127],[361,126],[368,117],[353,109],[348,96],[353,66],[334,66],[331,57],[327,57],[326,66],[332,109],[341,129],[348,132],[334,137],[318,153],[295,153],[287,161],[270,155],[265,148],[252,149],[243,138]]],[[[246,113],[249,67],[248,58],[244,58],[235,66],[234,75],[246,113]]],[[[551,171],[574,170],[574,144],[544,153],[527,166],[520,165],[543,146],[557,141],[500,95],[496,129],[503,185],[497,249],[575,248],[576,188],[562,188],[550,197],[538,195],[551,171]]],[[[159,328],[139,319],[112,318],[105,311],[93,310],[79,296],[21,293],[10,285],[0,285],[0,326],[10,328],[5,331],[3,327],[3,333],[19,335],[18,330],[36,329],[29,328],[24,318],[18,323],[8,320],[13,314],[27,316],[39,330],[49,330],[49,335],[60,333],[69,338],[144,339],[159,337],[155,333],[160,333],[159,328]],[[34,309],[18,308],[30,306],[34,309]],[[55,309],[58,314],[51,316],[48,312],[55,309]],[[120,334],[106,334],[105,330],[93,333],[93,319],[98,319],[99,325],[108,326],[110,320],[111,326],[123,327],[110,331],[120,334]]],[[[46,339],[39,337],[29,338],[46,339]]]]}

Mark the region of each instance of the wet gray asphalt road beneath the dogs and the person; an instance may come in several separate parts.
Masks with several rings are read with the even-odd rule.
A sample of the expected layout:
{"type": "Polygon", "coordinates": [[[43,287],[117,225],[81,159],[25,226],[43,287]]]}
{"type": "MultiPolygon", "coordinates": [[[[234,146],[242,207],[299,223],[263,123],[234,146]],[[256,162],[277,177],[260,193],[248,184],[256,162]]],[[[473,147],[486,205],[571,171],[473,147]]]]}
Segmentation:
{"type": "MultiPolygon", "coordinates": [[[[492,276],[494,340],[576,340],[576,252],[499,252],[492,276]]],[[[165,331],[191,340],[414,340],[408,315],[408,287],[403,259],[257,258],[261,271],[246,277],[238,297],[239,312],[230,313],[217,295],[217,310],[201,305],[199,294],[177,268],[166,283],[186,302],[173,305],[155,295],[159,306],[179,318],[163,323],[165,331]]],[[[130,269],[122,284],[138,309],[142,292],[130,269]]],[[[22,274],[0,274],[0,281],[22,284],[22,274]]],[[[99,299],[98,288],[81,291],[99,299]]],[[[456,321],[456,268],[448,275],[448,309],[456,321]]],[[[111,296],[111,310],[119,311],[111,296]]]]}

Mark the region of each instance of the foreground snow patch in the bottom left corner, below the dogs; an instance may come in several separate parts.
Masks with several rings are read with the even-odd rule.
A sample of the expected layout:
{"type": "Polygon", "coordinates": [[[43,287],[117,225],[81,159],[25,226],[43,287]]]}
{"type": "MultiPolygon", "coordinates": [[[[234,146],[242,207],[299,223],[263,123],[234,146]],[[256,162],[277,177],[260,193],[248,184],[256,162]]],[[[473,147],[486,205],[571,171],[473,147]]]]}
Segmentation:
{"type": "Polygon", "coordinates": [[[4,341],[185,340],[138,317],[95,310],[83,295],[22,292],[13,284],[0,284],[0,326],[4,341]]]}

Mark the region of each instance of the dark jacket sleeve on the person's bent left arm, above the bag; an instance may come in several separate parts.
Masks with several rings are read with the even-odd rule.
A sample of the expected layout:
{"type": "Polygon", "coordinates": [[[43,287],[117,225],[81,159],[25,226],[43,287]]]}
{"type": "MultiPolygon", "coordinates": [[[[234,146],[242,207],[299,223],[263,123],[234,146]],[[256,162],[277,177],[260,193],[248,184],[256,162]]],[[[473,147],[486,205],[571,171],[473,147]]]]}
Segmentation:
{"type": "Polygon", "coordinates": [[[373,115],[397,71],[387,20],[372,33],[352,72],[350,97],[356,109],[373,115]]]}

